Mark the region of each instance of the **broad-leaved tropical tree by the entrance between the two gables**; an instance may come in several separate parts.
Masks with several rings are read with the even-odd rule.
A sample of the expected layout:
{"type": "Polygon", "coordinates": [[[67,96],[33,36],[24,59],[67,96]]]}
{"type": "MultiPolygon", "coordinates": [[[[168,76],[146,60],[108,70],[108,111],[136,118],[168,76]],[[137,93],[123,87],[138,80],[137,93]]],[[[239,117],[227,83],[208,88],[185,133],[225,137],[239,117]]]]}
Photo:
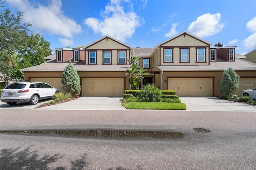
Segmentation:
{"type": "Polygon", "coordinates": [[[128,60],[128,62],[130,63],[132,69],[126,69],[125,71],[125,75],[129,74],[130,78],[129,78],[129,83],[130,85],[132,85],[132,90],[138,90],[139,89],[139,85],[140,82],[142,81],[143,75],[149,74],[146,73],[145,71],[147,69],[144,69],[144,66],[142,68],[137,68],[137,66],[139,65],[140,61],[140,57],[133,57],[131,55],[132,60],[128,60]]]}

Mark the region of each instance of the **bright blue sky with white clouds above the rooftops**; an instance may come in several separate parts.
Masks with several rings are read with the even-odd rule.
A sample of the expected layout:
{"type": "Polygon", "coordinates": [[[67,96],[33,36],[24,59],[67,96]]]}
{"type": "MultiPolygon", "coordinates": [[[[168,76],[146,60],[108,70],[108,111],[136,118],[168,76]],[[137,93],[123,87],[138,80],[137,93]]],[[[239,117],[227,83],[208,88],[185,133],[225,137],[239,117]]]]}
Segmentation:
{"type": "Polygon", "coordinates": [[[7,0],[22,22],[51,49],[78,47],[112,36],[132,47],[153,48],[188,31],[213,45],[256,48],[255,0],[7,0]]]}

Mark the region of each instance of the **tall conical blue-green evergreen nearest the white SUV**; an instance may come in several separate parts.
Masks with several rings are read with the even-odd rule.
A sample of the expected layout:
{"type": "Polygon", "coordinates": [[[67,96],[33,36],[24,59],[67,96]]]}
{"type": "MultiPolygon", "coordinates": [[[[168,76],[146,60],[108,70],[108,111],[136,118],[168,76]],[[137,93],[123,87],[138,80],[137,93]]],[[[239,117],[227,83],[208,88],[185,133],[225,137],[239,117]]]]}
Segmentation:
{"type": "Polygon", "coordinates": [[[70,92],[73,96],[80,94],[80,78],[70,60],[64,69],[61,83],[63,84],[64,91],[70,92]]]}

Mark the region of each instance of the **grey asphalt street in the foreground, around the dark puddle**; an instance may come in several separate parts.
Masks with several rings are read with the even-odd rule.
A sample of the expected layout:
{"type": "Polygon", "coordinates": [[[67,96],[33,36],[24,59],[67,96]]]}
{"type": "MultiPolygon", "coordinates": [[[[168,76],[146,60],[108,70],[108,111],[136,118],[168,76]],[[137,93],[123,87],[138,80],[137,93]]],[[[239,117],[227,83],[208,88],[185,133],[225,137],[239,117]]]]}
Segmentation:
{"type": "Polygon", "coordinates": [[[1,109],[1,130],[170,130],[183,138],[79,138],[0,134],[1,169],[253,170],[256,113],[1,109]],[[199,133],[193,128],[207,128],[199,133]]]}

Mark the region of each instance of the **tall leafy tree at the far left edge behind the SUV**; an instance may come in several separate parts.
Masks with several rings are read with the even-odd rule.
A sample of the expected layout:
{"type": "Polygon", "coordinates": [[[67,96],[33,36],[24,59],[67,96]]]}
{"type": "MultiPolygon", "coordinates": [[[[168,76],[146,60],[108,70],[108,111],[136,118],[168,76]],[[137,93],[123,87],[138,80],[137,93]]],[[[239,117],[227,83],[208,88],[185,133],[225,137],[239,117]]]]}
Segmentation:
{"type": "MultiPolygon", "coordinates": [[[[0,4],[4,4],[0,0],[0,4]]],[[[0,6],[3,8],[4,6],[0,6]]],[[[29,23],[21,23],[22,13],[12,14],[9,9],[0,11],[0,76],[5,85],[10,83],[12,71],[17,61],[18,49],[26,45],[29,23]]]]}

